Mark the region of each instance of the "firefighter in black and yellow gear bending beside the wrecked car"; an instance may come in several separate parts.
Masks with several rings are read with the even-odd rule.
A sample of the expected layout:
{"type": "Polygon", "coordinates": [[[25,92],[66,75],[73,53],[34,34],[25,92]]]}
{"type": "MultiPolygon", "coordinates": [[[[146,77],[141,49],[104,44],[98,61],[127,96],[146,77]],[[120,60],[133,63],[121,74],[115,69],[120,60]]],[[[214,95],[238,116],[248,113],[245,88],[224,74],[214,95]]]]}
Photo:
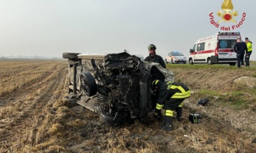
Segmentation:
{"type": "Polygon", "coordinates": [[[157,92],[158,101],[155,115],[162,118],[161,109],[164,109],[163,126],[161,129],[172,131],[173,111],[177,112],[177,120],[182,121],[182,106],[185,98],[190,97],[190,88],[183,83],[163,83],[159,80],[152,82],[152,90],[157,92]]]}

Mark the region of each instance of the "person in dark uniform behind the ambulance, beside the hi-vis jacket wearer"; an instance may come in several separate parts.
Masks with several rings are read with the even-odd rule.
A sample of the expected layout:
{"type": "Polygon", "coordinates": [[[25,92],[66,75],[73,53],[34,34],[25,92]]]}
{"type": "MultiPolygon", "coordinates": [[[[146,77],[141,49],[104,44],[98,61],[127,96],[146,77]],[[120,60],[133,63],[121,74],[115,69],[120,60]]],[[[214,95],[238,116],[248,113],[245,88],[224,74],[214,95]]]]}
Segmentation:
{"type": "Polygon", "coordinates": [[[244,51],[248,52],[246,42],[241,41],[241,38],[237,38],[233,49],[236,52],[237,67],[244,67],[244,51]]]}

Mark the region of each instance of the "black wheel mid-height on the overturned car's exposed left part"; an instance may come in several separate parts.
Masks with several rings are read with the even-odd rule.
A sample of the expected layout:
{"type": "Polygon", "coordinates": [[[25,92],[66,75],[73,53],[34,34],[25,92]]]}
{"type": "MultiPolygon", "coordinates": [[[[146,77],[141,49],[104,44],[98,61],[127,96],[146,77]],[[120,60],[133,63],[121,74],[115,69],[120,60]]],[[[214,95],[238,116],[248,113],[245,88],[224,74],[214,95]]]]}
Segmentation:
{"type": "Polygon", "coordinates": [[[97,84],[90,72],[82,73],[80,75],[80,81],[86,95],[90,97],[97,94],[97,84]]]}

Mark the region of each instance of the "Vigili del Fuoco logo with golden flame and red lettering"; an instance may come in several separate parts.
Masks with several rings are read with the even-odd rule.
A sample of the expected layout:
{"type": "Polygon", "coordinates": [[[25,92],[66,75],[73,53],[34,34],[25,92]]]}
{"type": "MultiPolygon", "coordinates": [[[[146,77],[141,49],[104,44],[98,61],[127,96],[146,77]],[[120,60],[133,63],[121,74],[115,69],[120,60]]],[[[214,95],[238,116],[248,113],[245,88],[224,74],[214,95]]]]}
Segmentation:
{"type": "Polygon", "coordinates": [[[225,30],[225,31],[229,31],[229,30],[235,30],[238,29],[244,22],[245,18],[246,18],[246,13],[243,13],[241,16],[241,20],[240,21],[236,21],[237,18],[239,18],[239,14],[237,10],[233,10],[233,4],[232,4],[232,0],[224,0],[224,2],[221,5],[221,10],[218,10],[218,12],[216,13],[216,15],[219,16],[219,20],[216,21],[215,20],[215,16],[213,16],[213,12],[209,14],[210,16],[210,23],[212,25],[214,25],[216,28],[219,28],[221,30],[225,30]],[[224,22],[232,22],[233,25],[231,26],[220,26],[220,24],[224,23],[224,22]]]}

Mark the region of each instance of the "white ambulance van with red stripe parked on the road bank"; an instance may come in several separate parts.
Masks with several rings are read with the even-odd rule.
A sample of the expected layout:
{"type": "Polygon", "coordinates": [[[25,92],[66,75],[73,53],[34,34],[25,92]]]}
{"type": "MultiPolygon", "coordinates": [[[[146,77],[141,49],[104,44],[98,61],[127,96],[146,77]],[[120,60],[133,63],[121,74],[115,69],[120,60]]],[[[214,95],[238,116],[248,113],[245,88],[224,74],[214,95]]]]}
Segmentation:
{"type": "Polygon", "coordinates": [[[190,64],[229,64],[235,66],[236,53],[233,50],[240,32],[219,32],[212,36],[198,39],[190,49],[190,64]]]}

